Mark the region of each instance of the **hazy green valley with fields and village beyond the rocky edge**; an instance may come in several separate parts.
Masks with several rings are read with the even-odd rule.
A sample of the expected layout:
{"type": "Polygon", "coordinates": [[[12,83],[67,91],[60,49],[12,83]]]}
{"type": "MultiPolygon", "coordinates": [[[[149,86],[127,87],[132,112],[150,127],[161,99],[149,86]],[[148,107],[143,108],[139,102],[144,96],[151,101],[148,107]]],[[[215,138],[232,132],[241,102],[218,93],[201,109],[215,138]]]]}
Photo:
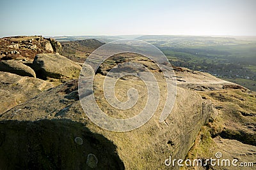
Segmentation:
{"type": "Polygon", "coordinates": [[[174,66],[204,71],[255,90],[256,41],[209,36],[141,36],[174,66]]]}

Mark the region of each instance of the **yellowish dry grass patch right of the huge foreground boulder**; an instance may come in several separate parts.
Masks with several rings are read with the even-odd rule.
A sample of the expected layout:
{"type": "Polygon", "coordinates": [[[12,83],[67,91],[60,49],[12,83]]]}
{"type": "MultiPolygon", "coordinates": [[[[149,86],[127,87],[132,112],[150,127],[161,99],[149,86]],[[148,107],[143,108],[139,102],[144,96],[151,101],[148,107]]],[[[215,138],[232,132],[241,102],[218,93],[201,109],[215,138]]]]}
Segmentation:
{"type": "Polygon", "coordinates": [[[216,136],[255,145],[256,92],[246,92],[243,88],[225,88],[199,93],[210,99],[214,106],[218,106],[218,117],[214,122],[202,127],[186,159],[212,157],[212,151],[216,148],[213,138],[216,136]]]}

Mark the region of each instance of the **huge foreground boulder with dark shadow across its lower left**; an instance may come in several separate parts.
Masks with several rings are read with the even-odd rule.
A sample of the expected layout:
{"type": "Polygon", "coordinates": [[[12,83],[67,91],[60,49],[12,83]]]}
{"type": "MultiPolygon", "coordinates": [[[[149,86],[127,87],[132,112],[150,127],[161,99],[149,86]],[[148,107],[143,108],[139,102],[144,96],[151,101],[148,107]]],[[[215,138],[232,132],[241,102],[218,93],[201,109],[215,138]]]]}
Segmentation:
{"type": "MultiPolygon", "coordinates": [[[[97,97],[103,79],[97,75],[94,94],[88,92],[83,97],[92,103],[90,96],[95,95],[104,112],[114,117],[122,115],[122,111],[111,110],[106,101],[97,97]]],[[[122,83],[134,85],[138,80],[122,80],[117,94],[119,88],[126,87],[122,83]]],[[[178,88],[175,106],[164,122],[159,123],[159,104],[155,115],[140,128],[111,132],[86,116],[79,102],[77,80],[73,80],[1,115],[0,168],[165,169],[164,161],[170,155],[172,159],[186,157],[211,114],[208,104],[195,92],[178,88]]],[[[135,108],[140,110],[143,104],[135,108]]],[[[132,114],[134,111],[127,112],[132,114]]]]}

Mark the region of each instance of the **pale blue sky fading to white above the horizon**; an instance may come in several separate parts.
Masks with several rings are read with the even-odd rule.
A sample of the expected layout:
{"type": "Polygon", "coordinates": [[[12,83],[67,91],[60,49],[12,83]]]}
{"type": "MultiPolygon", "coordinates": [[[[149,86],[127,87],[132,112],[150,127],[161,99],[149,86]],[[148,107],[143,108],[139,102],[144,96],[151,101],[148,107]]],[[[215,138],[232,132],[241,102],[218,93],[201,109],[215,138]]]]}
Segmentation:
{"type": "Polygon", "coordinates": [[[255,0],[0,0],[0,37],[256,36],[255,0]]]}

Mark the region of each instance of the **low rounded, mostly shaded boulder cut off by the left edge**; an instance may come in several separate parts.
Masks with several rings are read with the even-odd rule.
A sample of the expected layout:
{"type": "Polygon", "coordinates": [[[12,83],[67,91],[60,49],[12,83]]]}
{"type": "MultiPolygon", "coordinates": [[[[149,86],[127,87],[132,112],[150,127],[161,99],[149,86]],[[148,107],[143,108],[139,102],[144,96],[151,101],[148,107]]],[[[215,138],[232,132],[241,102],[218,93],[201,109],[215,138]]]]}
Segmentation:
{"type": "Polygon", "coordinates": [[[18,74],[20,76],[36,77],[36,73],[31,67],[26,66],[17,60],[2,60],[0,61],[0,71],[18,74]]]}

